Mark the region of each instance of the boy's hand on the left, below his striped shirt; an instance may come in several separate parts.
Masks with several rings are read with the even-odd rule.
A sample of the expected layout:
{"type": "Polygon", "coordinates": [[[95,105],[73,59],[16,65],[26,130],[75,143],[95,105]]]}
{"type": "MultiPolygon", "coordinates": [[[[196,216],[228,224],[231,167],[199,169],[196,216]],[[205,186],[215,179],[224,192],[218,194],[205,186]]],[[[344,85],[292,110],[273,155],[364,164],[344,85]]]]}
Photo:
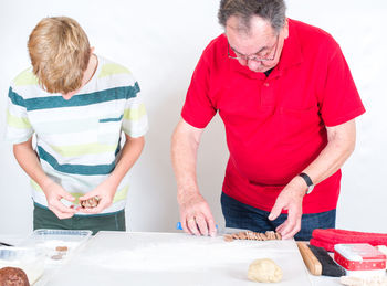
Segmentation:
{"type": "Polygon", "coordinates": [[[42,187],[42,190],[48,200],[49,209],[55,213],[60,220],[70,219],[76,213],[75,209],[69,208],[61,202],[61,199],[73,202],[75,198],[66,192],[60,184],[50,180],[42,187]]]}

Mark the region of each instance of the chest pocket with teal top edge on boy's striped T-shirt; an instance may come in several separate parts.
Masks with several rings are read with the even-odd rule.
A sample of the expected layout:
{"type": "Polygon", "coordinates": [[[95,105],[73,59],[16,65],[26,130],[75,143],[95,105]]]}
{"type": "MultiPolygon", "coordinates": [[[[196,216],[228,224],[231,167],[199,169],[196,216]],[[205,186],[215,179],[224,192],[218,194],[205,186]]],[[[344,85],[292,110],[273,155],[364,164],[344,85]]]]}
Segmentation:
{"type": "Polygon", "coordinates": [[[121,137],[123,114],[106,114],[98,118],[98,142],[116,145],[121,137]]]}

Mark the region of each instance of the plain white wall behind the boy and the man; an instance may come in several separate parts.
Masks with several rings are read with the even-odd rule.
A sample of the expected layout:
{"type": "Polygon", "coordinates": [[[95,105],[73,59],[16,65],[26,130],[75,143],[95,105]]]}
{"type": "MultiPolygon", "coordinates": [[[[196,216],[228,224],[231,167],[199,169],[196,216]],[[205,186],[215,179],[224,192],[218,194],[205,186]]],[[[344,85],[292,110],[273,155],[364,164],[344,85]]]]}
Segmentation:
{"type": "MultiPolygon", "coordinates": [[[[289,17],[318,25],[341,44],[367,113],[357,120],[357,148],[346,162],[337,226],[387,232],[387,40],[385,0],[287,0],[289,17]]],[[[132,231],[174,231],[178,221],[170,135],[191,73],[208,42],[221,33],[218,0],[1,0],[0,130],[10,81],[29,66],[28,35],[44,17],[76,19],[96,53],[129,67],[145,96],[150,130],[130,172],[127,224],[132,231]]],[[[218,224],[228,150],[216,117],[203,135],[198,178],[218,224]]],[[[0,234],[32,231],[29,180],[12,147],[0,140],[0,234]]]]}

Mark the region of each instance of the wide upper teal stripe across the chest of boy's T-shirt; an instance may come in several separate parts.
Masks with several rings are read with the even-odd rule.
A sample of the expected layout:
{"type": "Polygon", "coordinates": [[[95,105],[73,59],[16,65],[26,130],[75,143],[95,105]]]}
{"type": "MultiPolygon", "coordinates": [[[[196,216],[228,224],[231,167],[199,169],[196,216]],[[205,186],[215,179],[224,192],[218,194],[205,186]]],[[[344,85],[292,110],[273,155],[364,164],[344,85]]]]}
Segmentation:
{"type": "Polygon", "coordinates": [[[64,99],[60,95],[35,97],[24,99],[27,110],[40,110],[50,108],[61,108],[61,107],[73,107],[73,106],[87,106],[92,104],[106,103],[112,100],[128,99],[136,97],[139,92],[138,83],[134,86],[121,86],[108,88],[105,91],[100,91],[90,94],[79,94],[74,95],[69,100],[64,99]]]}

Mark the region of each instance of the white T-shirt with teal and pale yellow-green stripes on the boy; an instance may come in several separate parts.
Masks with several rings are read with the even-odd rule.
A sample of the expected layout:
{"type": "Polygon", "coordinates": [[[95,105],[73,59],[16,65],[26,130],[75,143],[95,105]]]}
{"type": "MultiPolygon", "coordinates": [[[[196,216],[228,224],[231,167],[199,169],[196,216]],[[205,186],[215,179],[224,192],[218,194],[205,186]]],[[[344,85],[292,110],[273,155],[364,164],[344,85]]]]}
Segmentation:
{"type": "MultiPolygon", "coordinates": [[[[92,191],[114,170],[122,131],[144,136],[148,119],[138,83],[122,65],[98,57],[94,76],[66,100],[44,92],[29,68],[9,88],[7,139],[24,142],[36,135],[36,152],[44,172],[76,199],[92,191]]],[[[41,188],[31,180],[35,203],[48,206],[41,188]]],[[[127,179],[117,188],[113,204],[103,211],[125,208],[127,179]]]]}

